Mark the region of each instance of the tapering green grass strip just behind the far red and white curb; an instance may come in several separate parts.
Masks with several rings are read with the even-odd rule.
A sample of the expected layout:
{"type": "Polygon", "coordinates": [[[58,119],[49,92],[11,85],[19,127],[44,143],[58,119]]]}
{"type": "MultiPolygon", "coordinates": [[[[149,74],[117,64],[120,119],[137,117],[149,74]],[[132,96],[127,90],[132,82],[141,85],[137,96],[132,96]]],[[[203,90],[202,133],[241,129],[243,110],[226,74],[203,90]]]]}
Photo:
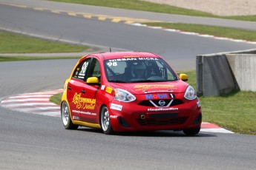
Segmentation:
{"type": "Polygon", "coordinates": [[[168,29],[182,30],[192,33],[215,35],[218,37],[256,41],[256,31],[240,30],[227,27],[214,27],[200,24],[174,24],[174,23],[145,23],[154,27],[165,27],[168,29]]]}

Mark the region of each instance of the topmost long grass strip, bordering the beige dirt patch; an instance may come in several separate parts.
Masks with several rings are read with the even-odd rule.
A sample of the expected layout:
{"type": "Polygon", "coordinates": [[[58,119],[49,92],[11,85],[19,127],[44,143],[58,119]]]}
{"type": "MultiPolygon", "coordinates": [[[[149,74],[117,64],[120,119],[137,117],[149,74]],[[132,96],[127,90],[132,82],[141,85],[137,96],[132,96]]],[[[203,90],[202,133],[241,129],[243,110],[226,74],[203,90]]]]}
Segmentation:
{"type": "Polygon", "coordinates": [[[154,13],[168,13],[186,16],[203,16],[212,18],[228,18],[243,21],[256,21],[256,16],[215,16],[211,13],[205,13],[198,10],[187,10],[181,7],[174,7],[167,4],[156,4],[140,0],[51,0],[63,1],[76,4],[88,4],[102,7],[116,7],[128,10],[142,10],[154,13]]]}

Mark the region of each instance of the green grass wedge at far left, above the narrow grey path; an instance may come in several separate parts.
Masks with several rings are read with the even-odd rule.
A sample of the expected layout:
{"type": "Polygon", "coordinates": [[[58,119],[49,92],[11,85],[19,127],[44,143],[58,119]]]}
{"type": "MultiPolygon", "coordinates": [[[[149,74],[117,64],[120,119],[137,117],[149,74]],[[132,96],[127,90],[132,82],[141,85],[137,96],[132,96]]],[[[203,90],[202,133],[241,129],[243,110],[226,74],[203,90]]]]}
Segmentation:
{"type": "Polygon", "coordinates": [[[0,53],[82,52],[89,47],[46,41],[0,31],[0,53]]]}

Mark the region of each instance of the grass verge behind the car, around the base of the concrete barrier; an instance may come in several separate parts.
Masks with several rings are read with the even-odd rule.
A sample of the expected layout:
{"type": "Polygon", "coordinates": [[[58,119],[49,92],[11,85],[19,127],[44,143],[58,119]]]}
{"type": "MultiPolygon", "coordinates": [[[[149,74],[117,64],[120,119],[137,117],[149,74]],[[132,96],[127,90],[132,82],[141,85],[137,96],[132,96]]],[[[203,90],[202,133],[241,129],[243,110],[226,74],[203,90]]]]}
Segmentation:
{"type": "MultiPolygon", "coordinates": [[[[188,75],[188,84],[196,89],[196,72],[188,75]]],[[[62,93],[53,95],[50,101],[60,105],[62,93]]],[[[200,97],[203,121],[217,124],[232,132],[256,135],[256,92],[232,92],[229,95],[200,97]]]]}

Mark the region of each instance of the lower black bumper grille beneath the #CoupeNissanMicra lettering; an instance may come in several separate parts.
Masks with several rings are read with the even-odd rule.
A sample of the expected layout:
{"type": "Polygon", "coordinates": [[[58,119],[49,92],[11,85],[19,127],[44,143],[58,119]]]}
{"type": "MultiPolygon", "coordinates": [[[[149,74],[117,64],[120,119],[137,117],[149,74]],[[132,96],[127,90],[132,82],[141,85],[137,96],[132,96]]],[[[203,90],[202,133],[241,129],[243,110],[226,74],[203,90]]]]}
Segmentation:
{"type": "Polygon", "coordinates": [[[145,118],[145,119],[137,119],[137,122],[141,126],[180,125],[185,123],[187,119],[188,117],[169,118],[169,119],[145,118]]]}

